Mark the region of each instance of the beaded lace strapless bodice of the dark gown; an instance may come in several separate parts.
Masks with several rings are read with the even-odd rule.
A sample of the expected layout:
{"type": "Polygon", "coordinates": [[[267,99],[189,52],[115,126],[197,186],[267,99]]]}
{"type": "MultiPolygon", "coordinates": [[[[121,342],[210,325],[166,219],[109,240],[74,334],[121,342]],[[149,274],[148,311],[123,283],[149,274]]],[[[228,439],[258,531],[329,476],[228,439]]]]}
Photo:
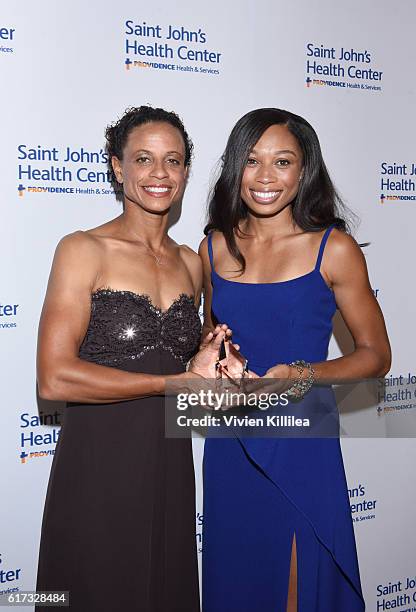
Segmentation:
{"type": "Polygon", "coordinates": [[[186,363],[198,349],[200,335],[201,321],[189,295],[182,293],[163,311],[148,295],[98,289],[91,296],[91,318],[79,356],[117,367],[161,349],[186,363]]]}

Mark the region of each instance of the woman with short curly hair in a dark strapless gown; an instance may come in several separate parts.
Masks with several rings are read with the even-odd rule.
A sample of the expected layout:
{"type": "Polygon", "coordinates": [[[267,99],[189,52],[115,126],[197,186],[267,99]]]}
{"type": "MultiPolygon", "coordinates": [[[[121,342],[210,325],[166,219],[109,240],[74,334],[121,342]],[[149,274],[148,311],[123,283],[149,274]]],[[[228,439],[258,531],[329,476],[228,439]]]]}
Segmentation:
{"type": "MultiPolygon", "coordinates": [[[[38,384],[70,402],[45,512],[37,590],[79,612],[197,612],[190,439],[166,439],[163,392],[214,376],[200,342],[199,257],[167,235],[192,143],[174,113],[133,108],[106,132],[124,211],[66,236],[42,312],[38,384]]],[[[42,607],[37,610],[42,610],[42,607]]]]}

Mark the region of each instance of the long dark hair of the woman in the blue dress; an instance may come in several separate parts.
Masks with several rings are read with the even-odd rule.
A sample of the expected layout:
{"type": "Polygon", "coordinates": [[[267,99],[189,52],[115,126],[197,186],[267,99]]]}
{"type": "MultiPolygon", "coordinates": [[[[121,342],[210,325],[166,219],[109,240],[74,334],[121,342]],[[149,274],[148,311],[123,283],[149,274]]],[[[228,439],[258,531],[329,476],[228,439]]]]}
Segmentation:
{"type": "MultiPolygon", "coordinates": [[[[303,155],[303,176],[292,202],[295,223],[305,231],[316,232],[334,225],[349,231],[347,209],[335,190],[322,157],[318,136],[299,115],[278,108],[259,108],[235,124],[222,156],[221,174],[209,197],[208,223],[223,233],[230,254],[245,270],[245,260],[235,239],[241,220],[248,214],[241,198],[241,180],[248,157],[262,134],[272,125],[285,125],[299,143],[303,155]]],[[[352,214],[352,213],[351,213],[352,214]]],[[[350,215],[348,215],[350,216],[350,215]]]]}

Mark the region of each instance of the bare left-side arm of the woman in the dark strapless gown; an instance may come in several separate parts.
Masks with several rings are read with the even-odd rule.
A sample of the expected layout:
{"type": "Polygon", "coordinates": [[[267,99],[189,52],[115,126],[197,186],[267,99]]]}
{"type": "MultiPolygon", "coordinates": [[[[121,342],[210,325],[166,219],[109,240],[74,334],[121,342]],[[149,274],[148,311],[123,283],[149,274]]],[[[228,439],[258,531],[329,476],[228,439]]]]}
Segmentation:
{"type": "MultiPolygon", "coordinates": [[[[78,357],[88,328],[91,293],[100,271],[100,247],[96,239],[77,232],[58,245],[39,326],[38,386],[44,399],[87,403],[111,403],[160,395],[166,381],[192,377],[124,372],[89,363],[78,357]]],[[[205,350],[218,354],[224,336],[220,332],[205,350]]]]}

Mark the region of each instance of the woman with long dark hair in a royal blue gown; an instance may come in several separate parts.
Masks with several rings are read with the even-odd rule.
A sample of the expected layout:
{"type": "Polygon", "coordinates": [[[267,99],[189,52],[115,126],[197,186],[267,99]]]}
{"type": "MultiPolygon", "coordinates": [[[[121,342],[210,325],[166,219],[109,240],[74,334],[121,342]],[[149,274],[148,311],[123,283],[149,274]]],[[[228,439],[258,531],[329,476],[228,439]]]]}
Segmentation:
{"type": "MultiPolygon", "coordinates": [[[[259,109],[237,122],[200,247],[205,326],[226,321],[251,370],[296,379],[301,394],[313,380],[390,367],[383,316],[342,210],[307,121],[259,109]],[[355,348],[327,361],[337,309],[355,348]]],[[[204,612],[364,609],[338,437],[208,438],[204,612]]]]}

